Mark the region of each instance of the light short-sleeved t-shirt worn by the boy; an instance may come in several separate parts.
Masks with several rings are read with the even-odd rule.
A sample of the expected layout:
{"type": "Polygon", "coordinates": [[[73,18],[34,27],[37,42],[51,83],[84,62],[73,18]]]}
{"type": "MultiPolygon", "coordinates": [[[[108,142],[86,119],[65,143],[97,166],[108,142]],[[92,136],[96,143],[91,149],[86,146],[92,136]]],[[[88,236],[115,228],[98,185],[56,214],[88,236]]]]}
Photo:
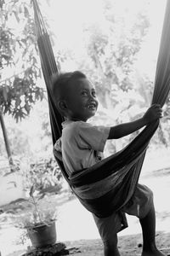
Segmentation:
{"type": "Polygon", "coordinates": [[[62,126],[62,136],[54,148],[61,151],[68,174],[93,166],[103,159],[110,127],[71,120],[63,122],[62,126]]]}

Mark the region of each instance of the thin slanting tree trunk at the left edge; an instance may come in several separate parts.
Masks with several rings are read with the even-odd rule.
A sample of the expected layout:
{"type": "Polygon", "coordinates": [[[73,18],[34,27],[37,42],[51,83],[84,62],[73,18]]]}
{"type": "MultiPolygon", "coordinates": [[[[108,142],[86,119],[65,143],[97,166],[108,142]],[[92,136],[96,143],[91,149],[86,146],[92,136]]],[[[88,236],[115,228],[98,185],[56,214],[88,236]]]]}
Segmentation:
{"type": "Polygon", "coordinates": [[[5,148],[6,148],[7,154],[8,154],[8,163],[10,166],[10,171],[14,172],[14,162],[12,159],[12,154],[11,154],[9,143],[8,143],[8,134],[7,134],[5,124],[4,124],[4,120],[3,120],[3,113],[1,110],[0,110],[0,122],[1,122],[1,127],[3,130],[3,138],[4,138],[4,142],[5,142],[5,148]]]}

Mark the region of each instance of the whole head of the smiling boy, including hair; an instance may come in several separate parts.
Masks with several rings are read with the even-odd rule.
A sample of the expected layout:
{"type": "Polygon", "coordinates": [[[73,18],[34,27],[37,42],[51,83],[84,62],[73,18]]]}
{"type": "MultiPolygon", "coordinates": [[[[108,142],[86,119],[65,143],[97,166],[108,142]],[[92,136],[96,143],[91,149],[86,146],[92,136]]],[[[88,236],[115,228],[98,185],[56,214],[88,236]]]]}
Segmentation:
{"type": "Polygon", "coordinates": [[[98,108],[94,85],[79,71],[59,74],[53,81],[53,95],[67,119],[87,121],[98,108]]]}

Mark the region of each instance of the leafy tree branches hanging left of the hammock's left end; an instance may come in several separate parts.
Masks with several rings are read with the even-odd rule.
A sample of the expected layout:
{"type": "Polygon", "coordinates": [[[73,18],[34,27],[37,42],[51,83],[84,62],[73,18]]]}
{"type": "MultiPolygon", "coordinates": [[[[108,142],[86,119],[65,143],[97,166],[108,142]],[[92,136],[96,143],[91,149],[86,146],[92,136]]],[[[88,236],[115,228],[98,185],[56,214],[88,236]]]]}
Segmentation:
{"type": "Polygon", "coordinates": [[[18,121],[44,96],[37,86],[41,72],[31,2],[1,1],[0,17],[0,106],[18,121]],[[8,77],[11,70],[14,73],[8,77]]]}

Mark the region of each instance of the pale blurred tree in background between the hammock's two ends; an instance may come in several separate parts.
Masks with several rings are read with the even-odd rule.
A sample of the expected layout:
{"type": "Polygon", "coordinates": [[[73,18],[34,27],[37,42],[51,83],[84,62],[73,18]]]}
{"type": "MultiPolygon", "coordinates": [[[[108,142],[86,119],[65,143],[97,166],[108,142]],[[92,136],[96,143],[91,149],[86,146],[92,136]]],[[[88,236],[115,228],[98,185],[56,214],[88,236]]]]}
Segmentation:
{"type": "MultiPolygon", "coordinates": [[[[85,26],[89,59],[81,68],[94,82],[99,102],[103,105],[99,119],[105,124],[116,124],[132,118],[130,112],[134,105],[140,103],[141,112],[145,107],[142,96],[134,88],[133,65],[150,22],[144,9],[136,13],[135,22],[129,23],[126,14],[121,16],[116,11],[116,1],[103,3],[101,23],[85,26]]],[[[139,108],[136,110],[133,115],[139,108]]],[[[122,141],[127,143],[128,140],[122,141]]]]}

